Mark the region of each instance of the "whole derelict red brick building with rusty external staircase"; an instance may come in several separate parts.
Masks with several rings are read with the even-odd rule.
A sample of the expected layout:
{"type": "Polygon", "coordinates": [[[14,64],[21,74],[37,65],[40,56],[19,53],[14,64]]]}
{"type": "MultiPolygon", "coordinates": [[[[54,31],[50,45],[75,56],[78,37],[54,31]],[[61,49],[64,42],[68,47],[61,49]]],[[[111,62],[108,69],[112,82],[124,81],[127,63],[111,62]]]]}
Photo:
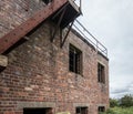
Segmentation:
{"type": "Polygon", "coordinates": [[[71,1],[0,1],[0,114],[98,114],[109,107],[109,59],[96,39],[102,48],[66,28],[81,13],[71,1]]]}

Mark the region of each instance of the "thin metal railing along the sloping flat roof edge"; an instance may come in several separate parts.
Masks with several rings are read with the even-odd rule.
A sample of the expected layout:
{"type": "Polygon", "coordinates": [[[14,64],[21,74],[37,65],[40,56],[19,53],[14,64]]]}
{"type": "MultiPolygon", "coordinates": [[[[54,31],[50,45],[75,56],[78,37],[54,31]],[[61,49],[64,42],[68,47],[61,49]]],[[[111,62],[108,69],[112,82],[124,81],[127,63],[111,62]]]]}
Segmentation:
{"type": "Polygon", "coordinates": [[[90,33],[90,31],[84,28],[80,21],[74,21],[73,29],[76,30],[89,43],[91,43],[98,52],[101,52],[108,58],[108,49],[94,35],[92,35],[92,33],[90,33]]]}

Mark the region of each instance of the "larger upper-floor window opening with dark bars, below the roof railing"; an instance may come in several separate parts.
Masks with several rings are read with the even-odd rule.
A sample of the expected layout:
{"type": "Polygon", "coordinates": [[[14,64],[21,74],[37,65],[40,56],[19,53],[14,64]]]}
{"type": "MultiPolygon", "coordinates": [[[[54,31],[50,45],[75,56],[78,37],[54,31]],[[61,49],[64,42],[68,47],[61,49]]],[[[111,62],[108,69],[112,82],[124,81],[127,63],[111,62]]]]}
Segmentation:
{"type": "Polygon", "coordinates": [[[82,74],[82,52],[70,44],[69,70],[76,74],[82,74]]]}

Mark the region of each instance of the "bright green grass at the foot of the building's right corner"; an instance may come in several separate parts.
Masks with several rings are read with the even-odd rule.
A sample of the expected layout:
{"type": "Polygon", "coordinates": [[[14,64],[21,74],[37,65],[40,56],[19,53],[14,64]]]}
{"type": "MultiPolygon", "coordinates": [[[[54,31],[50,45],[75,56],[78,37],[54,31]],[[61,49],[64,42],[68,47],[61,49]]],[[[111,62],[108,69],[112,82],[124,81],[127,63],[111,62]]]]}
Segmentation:
{"type": "Polygon", "coordinates": [[[106,113],[100,114],[133,114],[133,107],[114,107],[106,111],[106,113]]]}

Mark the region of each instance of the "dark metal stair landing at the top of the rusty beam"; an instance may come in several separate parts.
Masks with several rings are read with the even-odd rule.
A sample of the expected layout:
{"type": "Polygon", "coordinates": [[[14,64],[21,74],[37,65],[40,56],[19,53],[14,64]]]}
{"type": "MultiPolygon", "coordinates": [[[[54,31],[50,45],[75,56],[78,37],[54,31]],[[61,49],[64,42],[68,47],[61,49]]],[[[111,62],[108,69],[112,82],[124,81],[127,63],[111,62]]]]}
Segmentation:
{"type": "Polygon", "coordinates": [[[81,0],[68,0],[63,7],[52,14],[51,20],[54,23],[60,23],[60,28],[64,29],[81,13],[81,0]]]}

